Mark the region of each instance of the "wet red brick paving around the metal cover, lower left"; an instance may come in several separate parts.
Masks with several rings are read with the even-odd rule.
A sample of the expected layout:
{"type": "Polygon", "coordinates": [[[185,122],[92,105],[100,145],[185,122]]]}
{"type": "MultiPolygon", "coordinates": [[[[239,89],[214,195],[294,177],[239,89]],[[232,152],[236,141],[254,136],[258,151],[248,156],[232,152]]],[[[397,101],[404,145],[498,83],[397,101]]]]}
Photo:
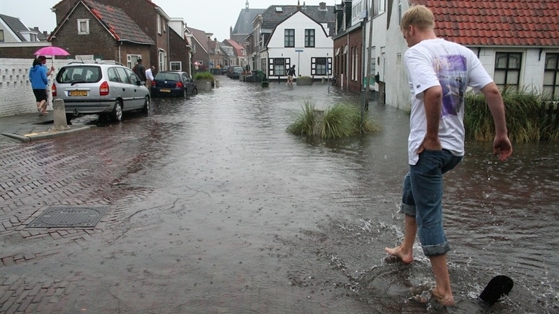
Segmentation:
{"type": "Polygon", "coordinates": [[[33,267],[39,260],[103,241],[108,227],[119,232],[118,223],[131,215],[130,202],[142,200],[144,190],[114,188],[126,176],[129,160],[141,161],[142,154],[120,152],[110,142],[114,137],[99,145],[99,137],[107,133],[109,129],[92,128],[81,133],[78,144],[75,135],[34,144],[0,140],[0,313],[64,313],[77,287],[73,281],[82,279],[79,273],[52,278],[2,270],[33,267]],[[49,206],[85,204],[110,205],[95,228],[26,228],[49,206]]]}

